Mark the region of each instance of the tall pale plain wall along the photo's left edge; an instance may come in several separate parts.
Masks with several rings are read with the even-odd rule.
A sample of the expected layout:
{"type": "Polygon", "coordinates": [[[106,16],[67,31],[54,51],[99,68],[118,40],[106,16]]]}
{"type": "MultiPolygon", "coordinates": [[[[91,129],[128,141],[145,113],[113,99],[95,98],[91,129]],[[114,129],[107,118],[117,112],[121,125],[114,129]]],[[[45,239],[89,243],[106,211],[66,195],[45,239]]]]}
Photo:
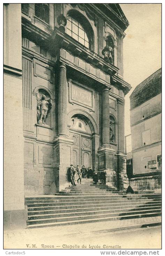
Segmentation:
{"type": "Polygon", "coordinates": [[[21,4],[4,4],[4,228],[25,228],[21,4]],[[14,40],[13,40],[14,38],[14,40]]]}

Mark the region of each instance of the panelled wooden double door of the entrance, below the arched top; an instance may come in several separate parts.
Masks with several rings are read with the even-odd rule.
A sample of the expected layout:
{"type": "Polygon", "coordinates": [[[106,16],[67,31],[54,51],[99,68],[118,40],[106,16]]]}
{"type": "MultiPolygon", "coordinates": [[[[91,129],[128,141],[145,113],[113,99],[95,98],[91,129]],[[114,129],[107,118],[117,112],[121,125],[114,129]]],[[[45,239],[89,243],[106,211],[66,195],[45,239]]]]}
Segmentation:
{"type": "Polygon", "coordinates": [[[92,168],[92,137],[81,133],[70,132],[73,142],[73,165],[92,168]]]}

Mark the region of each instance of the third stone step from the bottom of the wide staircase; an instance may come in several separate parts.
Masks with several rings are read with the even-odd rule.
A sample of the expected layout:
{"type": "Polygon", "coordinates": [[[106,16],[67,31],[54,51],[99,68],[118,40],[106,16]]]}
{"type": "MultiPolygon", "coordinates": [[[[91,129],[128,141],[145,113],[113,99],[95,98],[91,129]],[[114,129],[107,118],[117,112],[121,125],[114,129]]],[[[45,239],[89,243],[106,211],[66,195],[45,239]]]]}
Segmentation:
{"type": "Polygon", "coordinates": [[[143,207],[133,207],[133,206],[127,206],[127,207],[122,207],[121,208],[115,208],[115,207],[107,207],[107,208],[76,208],[76,209],[64,209],[64,210],[47,210],[47,211],[30,211],[30,213],[28,212],[28,219],[34,219],[34,218],[38,218],[39,216],[42,216],[42,218],[44,218],[43,216],[72,216],[72,215],[80,215],[80,214],[98,214],[98,213],[120,213],[123,212],[123,209],[125,209],[125,211],[134,211],[134,210],[156,210],[159,209],[161,210],[161,206],[143,206],[143,207]]]}

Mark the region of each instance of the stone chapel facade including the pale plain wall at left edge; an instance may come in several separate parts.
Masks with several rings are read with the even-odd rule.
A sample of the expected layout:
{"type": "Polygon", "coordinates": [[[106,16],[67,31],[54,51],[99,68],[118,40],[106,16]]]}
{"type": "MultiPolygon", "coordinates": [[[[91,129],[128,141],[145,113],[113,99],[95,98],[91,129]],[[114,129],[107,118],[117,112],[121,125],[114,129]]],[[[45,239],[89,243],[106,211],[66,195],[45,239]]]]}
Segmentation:
{"type": "Polygon", "coordinates": [[[4,4],[6,227],[26,226],[24,196],[67,187],[72,163],[128,187],[128,25],[119,4],[4,4]]]}

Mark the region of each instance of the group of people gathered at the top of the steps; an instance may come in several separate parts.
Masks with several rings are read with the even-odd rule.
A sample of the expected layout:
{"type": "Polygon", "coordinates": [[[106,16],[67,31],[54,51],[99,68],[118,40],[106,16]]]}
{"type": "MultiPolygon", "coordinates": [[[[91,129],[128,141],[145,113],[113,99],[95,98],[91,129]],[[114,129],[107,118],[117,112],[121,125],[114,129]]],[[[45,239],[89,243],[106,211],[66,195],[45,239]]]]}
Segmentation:
{"type": "Polygon", "coordinates": [[[73,186],[76,186],[75,180],[77,180],[77,183],[80,182],[82,178],[92,178],[93,183],[97,184],[97,182],[100,180],[100,182],[103,185],[106,185],[106,172],[102,170],[99,174],[97,171],[93,171],[91,167],[88,168],[88,170],[83,165],[80,169],[80,166],[77,165],[76,168],[74,168],[73,164],[70,164],[70,167],[68,168],[68,181],[71,182],[73,186]]]}

